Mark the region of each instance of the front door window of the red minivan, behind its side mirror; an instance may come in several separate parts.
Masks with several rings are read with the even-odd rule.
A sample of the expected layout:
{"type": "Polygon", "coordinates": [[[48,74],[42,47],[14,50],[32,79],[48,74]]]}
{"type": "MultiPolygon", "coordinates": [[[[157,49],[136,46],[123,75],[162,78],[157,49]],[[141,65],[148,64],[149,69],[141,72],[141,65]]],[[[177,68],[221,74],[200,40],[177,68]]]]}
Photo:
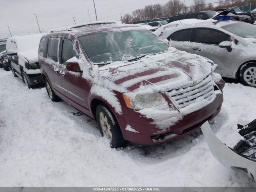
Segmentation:
{"type": "Polygon", "coordinates": [[[73,57],[79,58],[79,54],[76,48],[74,48],[74,44],[70,40],[64,38],[62,44],[62,64],[65,65],[66,61],[73,57]]]}

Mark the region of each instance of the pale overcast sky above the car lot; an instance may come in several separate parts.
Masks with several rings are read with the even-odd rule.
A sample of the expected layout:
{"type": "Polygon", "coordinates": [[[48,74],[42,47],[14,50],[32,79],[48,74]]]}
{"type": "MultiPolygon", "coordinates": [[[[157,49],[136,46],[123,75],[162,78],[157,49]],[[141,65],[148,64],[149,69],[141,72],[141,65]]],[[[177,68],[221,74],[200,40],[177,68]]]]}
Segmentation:
{"type": "MultiPolygon", "coordinates": [[[[120,13],[131,13],[148,4],[165,4],[168,0],[95,0],[98,20],[120,20],[120,13]]],[[[186,0],[192,4],[193,0],[186,0]]],[[[95,21],[93,0],[0,0],[0,38],[38,32],[36,17],[42,31],[76,23],[95,21]],[[70,10],[71,9],[71,10],[70,10]]]]}

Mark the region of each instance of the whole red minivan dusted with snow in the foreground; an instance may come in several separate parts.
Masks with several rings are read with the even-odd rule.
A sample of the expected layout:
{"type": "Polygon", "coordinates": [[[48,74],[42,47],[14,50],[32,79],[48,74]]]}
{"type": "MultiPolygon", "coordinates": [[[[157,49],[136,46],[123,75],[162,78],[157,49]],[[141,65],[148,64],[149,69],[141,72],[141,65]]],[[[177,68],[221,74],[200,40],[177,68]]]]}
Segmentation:
{"type": "Polygon", "coordinates": [[[223,102],[224,81],[211,60],[176,50],[140,26],[95,22],[52,30],[38,54],[50,99],[96,120],[114,148],[188,134],[223,102]]]}

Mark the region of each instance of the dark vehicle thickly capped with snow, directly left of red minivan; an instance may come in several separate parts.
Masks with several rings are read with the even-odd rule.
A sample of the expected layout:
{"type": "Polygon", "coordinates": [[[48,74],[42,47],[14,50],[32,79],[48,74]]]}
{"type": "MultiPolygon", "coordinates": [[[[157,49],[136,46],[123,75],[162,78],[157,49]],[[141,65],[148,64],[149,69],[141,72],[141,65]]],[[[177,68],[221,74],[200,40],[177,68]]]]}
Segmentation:
{"type": "Polygon", "coordinates": [[[38,64],[38,47],[42,33],[17,35],[8,38],[6,51],[14,77],[22,78],[32,88],[42,84],[38,64]]]}

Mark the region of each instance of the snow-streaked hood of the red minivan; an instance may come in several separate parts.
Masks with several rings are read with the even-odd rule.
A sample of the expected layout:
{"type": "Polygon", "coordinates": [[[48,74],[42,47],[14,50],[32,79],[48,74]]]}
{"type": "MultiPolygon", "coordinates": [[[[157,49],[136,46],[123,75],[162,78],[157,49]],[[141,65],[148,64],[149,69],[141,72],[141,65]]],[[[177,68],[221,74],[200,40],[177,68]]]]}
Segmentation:
{"type": "Polygon", "coordinates": [[[138,61],[100,67],[100,76],[131,92],[162,92],[200,80],[211,70],[212,65],[205,58],[172,48],[138,61]]]}

